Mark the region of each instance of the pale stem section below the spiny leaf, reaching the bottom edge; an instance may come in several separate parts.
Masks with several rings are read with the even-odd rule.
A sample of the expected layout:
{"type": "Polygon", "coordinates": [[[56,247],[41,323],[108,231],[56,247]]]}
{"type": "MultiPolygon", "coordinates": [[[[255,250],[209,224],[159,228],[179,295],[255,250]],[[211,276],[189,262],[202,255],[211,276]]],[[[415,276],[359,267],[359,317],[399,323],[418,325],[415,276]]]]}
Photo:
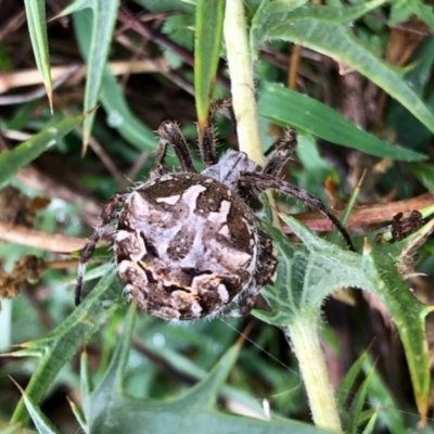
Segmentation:
{"type": "Polygon", "coordinates": [[[341,420],[319,339],[318,316],[298,316],[289,328],[293,350],[317,426],[342,432],[341,420]]]}

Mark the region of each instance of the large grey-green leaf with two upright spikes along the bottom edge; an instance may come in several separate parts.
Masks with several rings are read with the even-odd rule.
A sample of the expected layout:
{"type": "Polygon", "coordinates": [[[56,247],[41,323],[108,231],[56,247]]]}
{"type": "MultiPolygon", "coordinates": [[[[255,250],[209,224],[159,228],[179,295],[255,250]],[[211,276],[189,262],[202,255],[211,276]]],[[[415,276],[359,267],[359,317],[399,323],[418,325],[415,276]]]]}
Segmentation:
{"type": "Polygon", "coordinates": [[[230,348],[196,385],[182,395],[165,399],[137,399],[123,393],[123,378],[133,328],[135,306],[126,318],[124,336],[110,367],[86,404],[89,432],[93,434],[142,433],[324,433],[294,421],[264,421],[218,411],[215,401],[239,355],[239,345],[230,348]]]}

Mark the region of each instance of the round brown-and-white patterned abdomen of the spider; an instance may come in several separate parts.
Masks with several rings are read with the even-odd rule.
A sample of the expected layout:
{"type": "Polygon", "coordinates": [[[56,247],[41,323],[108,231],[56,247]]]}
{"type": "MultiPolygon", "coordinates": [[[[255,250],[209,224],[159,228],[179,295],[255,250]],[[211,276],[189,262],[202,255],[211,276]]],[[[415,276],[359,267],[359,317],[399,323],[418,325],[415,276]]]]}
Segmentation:
{"type": "Polygon", "coordinates": [[[224,183],[167,174],[125,197],[114,250],[119,277],[144,310],[194,319],[219,312],[248,286],[258,230],[224,183]]]}

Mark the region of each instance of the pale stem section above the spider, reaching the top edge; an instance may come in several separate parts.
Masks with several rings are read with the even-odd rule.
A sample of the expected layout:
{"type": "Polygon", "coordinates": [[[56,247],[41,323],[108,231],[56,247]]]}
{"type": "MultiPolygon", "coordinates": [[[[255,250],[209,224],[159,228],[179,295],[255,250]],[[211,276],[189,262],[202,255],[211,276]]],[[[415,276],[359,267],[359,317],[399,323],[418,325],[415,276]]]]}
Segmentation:
{"type": "Polygon", "coordinates": [[[242,0],[226,1],[224,35],[240,151],[263,166],[265,156],[260,144],[253,63],[242,0]]]}

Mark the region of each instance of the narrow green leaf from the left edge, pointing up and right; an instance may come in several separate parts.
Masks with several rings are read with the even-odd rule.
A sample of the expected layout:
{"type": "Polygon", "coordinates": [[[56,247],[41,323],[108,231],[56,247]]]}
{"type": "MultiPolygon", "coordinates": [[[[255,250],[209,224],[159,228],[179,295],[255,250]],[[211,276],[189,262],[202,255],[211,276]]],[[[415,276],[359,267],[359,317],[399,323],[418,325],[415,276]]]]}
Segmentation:
{"type": "Polygon", "coordinates": [[[0,154],[0,188],[21,168],[66,136],[86,118],[86,114],[61,120],[35,135],[12,151],[0,154]]]}

